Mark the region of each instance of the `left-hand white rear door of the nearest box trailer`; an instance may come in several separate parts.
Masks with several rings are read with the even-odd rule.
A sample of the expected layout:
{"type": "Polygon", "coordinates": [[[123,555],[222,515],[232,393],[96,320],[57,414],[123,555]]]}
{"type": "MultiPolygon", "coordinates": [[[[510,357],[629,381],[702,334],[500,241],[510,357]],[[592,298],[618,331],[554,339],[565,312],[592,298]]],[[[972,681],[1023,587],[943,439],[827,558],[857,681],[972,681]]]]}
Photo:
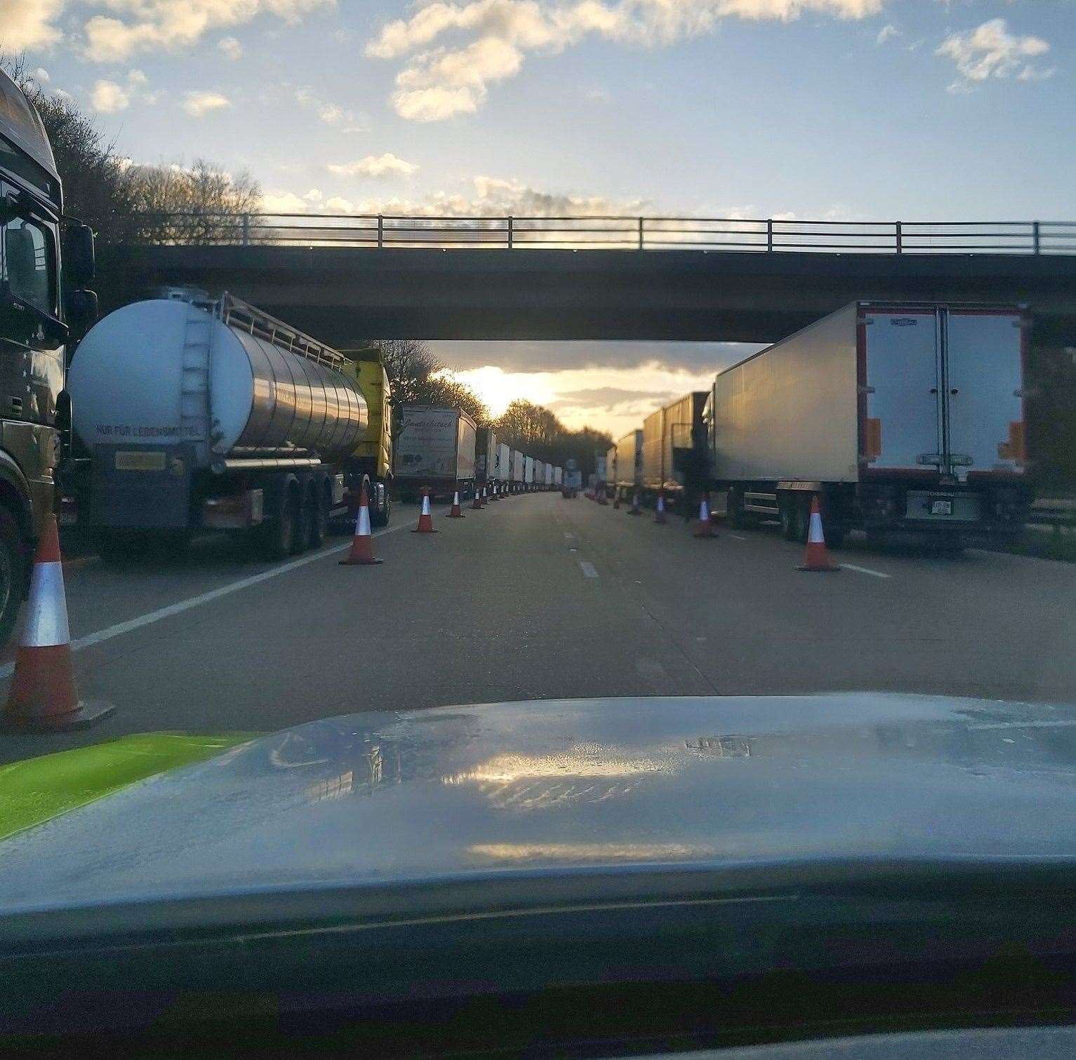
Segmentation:
{"type": "Polygon", "coordinates": [[[869,468],[922,471],[942,453],[940,352],[931,311],[865,314],[866,420],[869,468]],[[921,459],[925,458],[925,459],[921,459]]]}

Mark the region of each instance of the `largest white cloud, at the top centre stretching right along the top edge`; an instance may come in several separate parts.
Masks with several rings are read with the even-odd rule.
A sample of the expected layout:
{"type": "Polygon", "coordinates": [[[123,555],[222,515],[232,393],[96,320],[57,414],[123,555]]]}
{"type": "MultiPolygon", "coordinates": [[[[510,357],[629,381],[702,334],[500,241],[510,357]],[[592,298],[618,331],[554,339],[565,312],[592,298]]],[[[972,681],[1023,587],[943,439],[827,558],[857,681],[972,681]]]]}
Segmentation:
{"type": "Polygon", "coordinates": [[[366,46],[378,59],[406,58],[392,102],[414,121],[473,113],[489,86],[514,77],[528,52],[561,52],[586,37],[654,46],[710,32],[723,18],[790,22],[805,12],[865,18],[883,0],[434,0],[387,23],[366,46]],[[470,39],[439,45],[450,33],[470,39]]]}

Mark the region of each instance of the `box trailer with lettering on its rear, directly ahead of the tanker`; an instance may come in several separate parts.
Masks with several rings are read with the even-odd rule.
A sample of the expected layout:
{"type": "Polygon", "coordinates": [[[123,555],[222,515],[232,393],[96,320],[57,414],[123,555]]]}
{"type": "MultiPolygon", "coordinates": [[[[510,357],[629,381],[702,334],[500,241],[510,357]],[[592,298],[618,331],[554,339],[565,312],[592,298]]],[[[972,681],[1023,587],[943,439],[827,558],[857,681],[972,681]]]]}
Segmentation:
{"type": "Polygon", "coordinates": [[[476,482],[475,420],[462,409],[401,404],[396,436],[396,481],[400,496],[451,499],[469,496],[476,482]]]}

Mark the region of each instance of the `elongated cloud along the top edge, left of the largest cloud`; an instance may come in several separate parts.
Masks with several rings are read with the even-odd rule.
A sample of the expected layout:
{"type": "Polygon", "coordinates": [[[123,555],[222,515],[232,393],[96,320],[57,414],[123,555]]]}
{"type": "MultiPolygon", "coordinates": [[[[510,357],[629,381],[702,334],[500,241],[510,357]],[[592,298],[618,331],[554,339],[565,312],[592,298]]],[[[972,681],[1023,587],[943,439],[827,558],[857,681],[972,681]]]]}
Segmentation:
{"type": "MultiPolygon", "coordinates": [[[[11,0],[0,0],[11,2],[11,0]]],[[[26,0],[15,0],[26,2],[26,0]]],[[[28,0],[32,6],[41,0],[28,0]]],[[[57,3],[58,0],[46,0],[57,3]]],[[[96,62],[122,62],[136,52],[175,51],[197,43],[214,29],[241,26],[258,15],[297,23],[336,0],[94,0],[110,14],[83,27],[84,52],[96,62]],[[122,17],[115,17],[116,15],[122,17]]]]}

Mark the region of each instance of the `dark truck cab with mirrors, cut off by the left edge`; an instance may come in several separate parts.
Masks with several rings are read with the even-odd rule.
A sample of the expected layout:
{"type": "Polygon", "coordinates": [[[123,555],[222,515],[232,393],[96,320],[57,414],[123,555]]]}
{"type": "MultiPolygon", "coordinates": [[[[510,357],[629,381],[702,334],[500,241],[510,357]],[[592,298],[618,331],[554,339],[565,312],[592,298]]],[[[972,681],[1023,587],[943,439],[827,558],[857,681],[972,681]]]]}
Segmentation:
{"type": "Polygon", "coordinates": [[[57,510],[71,442],[66,358],[97,316],[97,296],[84,289],[93,280],[94,234],[65,217],[45,128],[0,71],[0,643],[57,510]]]}

